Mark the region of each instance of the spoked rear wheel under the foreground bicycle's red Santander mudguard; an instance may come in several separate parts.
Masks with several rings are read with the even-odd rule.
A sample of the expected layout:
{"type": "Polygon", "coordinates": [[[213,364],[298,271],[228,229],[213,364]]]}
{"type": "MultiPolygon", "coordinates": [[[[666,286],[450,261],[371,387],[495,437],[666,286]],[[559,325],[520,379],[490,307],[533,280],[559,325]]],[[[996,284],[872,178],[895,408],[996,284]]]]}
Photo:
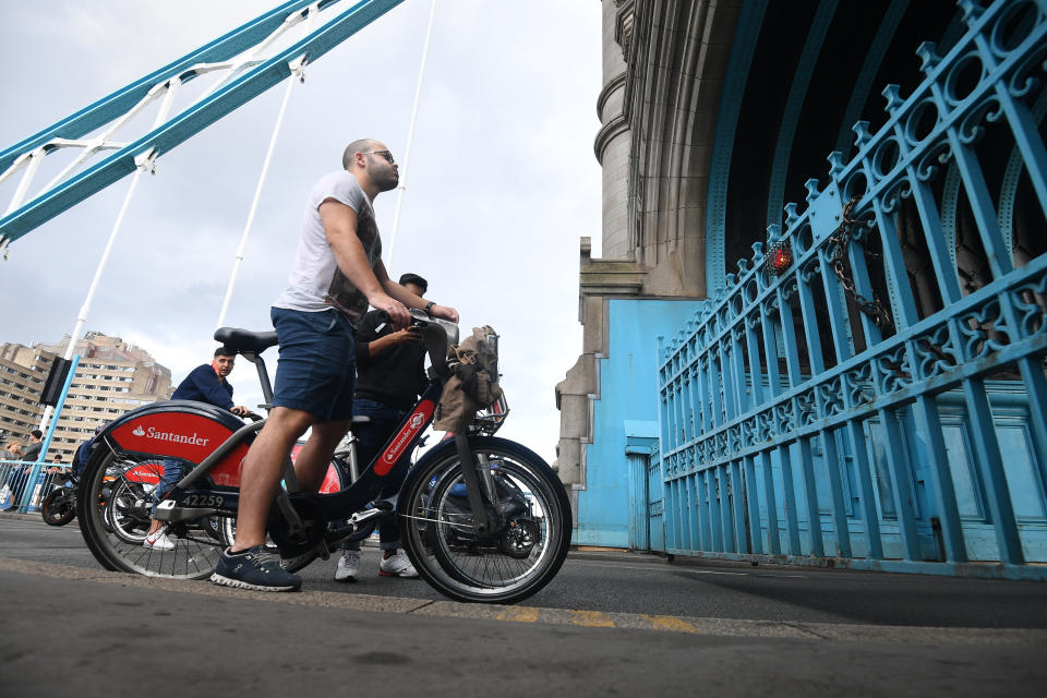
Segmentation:
{"type": "Polygon", "coordinates": [[[153,490],[163,459],[95,447],[80,480],[76,515],[95,558],[106,569],[149,577],[206,579],[226,545],[214,517],[180,521],[166,529],[173,547],[145,547],[153,490]]]}

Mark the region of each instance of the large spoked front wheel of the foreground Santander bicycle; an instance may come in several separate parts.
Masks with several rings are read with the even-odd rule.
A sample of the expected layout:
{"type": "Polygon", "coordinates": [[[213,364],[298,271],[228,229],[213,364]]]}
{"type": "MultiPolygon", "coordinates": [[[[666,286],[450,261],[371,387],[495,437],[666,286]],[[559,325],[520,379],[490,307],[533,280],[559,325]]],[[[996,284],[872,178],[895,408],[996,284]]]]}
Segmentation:
{"type": "Polygon", "coordinates": [[[470,447],[494,484],[501,525],[480,538],[454,444],[412,469],[397,506],[404,547],[419,575],[458,601],[516,603],[547,585],[570,546],[570,504],[556,473],[510,441],[474,436],[470,447]]]}

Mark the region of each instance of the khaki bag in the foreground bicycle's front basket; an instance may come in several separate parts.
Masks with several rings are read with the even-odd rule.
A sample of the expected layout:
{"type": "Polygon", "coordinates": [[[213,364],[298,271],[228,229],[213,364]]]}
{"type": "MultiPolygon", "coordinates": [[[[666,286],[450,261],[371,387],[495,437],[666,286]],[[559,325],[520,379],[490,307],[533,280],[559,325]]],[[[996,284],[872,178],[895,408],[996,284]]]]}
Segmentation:
{"type": "Polygon", "coordinates": [[[497,333],[490,325],[473,327],[472,336],[447,350],[449,363],[457,362],[457,366],[436,406],[433,429],[466,431],[466,426],[476,421],[477,412],[502,397],[497,339],[497,333]]]}

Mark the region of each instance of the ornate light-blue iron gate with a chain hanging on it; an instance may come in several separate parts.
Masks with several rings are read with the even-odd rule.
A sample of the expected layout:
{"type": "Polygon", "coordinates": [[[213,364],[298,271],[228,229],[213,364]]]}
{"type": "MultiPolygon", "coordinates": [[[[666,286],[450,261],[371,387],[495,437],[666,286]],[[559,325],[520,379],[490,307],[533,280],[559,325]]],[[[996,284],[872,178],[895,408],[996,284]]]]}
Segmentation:
{"type": "Polygon", "coordinates": [[[884,125],[855,124],[856,156],[830,155],[826,189],[808,181],[807,209],[790,204],[785,230],[769,227],[772,249],[791,249],[789,270],[775,277],[754,244],[660,347],[667,552],[1047,578],[1028,564],[1047,562],[1047,254],[1015,268],[1001,215],[1013,200],[998,213],[976,154],[987,122],[1008,129],[1047,215],[1047,2],[959,4],[965,36],[944,57],[920,46],[923,83],[906,99],[889,85],[884,125]],[[991,270],[967,296],[934,191],[946,167],[991,270]],[[896,229],[902,198],[931,262],[917,272],[941,299],[923,317],[896,229]],[[843,279],[865,301],[886,288],[889,322],[844,302],[843,279]]]}

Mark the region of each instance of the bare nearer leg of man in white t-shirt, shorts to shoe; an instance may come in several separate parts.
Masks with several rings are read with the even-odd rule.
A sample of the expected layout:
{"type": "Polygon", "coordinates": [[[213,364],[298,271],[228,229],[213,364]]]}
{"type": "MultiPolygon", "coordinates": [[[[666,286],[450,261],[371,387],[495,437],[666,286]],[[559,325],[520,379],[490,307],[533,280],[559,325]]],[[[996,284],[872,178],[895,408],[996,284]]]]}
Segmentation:
{"type": "Polygon", "coordinates": [[[230,549],[239,552],[265,543],[265,521],[284,477],[284,464],[298,437],[315,418],[309,412],[275,407],[265,426],[243,459],[240,471],[240,509],[237,540],[230,549]]]}

